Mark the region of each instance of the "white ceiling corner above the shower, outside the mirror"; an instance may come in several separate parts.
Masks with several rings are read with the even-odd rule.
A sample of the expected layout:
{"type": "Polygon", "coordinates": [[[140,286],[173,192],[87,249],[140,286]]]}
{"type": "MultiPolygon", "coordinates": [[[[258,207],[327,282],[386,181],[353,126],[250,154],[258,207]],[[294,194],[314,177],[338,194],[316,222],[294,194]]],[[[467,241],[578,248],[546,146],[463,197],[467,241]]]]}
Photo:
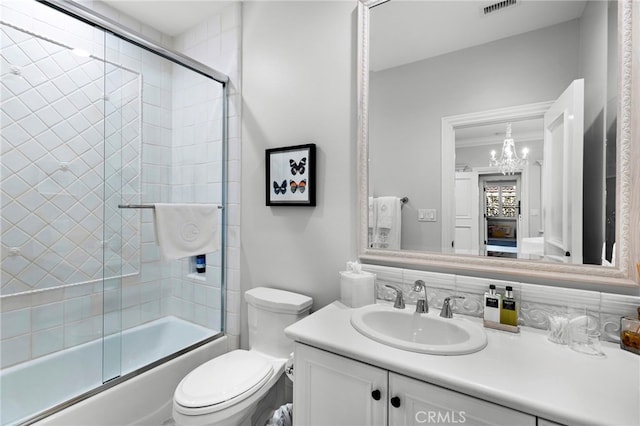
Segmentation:
{"type": "Polygon", "coordinates": [[[176,36],[219,13],[235,1],[222,0],[102,0],[156,30],[176,36]]]}

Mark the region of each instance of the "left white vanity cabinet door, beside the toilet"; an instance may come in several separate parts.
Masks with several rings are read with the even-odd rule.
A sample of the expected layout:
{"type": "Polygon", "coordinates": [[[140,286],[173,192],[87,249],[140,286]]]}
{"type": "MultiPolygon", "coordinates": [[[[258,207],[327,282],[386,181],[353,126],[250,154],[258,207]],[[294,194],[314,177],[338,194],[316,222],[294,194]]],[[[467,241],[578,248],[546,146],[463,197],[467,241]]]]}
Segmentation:
{"type": "Polygon", "coordinates": [[[386,388],[386,370],[295,344],[296,426],[384,425],[386,388]]]}

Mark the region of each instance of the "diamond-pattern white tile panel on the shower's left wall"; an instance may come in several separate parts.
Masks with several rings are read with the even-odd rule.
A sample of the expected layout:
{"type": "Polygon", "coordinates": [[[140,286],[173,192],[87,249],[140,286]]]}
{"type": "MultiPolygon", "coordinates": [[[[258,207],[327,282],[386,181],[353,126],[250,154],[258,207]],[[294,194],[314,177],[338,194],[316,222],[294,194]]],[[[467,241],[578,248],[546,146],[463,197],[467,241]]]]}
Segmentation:
{"type": "Polygon", "coordinates": [[[140,221],[103,198],[140,199],[142,76],[5,24],[0,38],[0,295],[137,273],[140,221]]]}

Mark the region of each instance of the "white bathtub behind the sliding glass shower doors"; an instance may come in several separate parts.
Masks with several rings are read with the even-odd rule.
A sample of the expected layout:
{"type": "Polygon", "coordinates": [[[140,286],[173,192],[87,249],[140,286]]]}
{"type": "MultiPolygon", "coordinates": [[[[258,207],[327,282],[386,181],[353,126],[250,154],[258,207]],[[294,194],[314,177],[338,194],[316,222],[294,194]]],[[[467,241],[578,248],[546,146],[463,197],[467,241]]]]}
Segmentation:
{"type": "Polygon", "coordinates": [[[152,422],[169,418],[175,386],[193,368],[226,352],[226,338],[222,336],[142,373],[139,369],[211,336],[210,329],[165,317],[118,336],[6,368],[0,373],[1,424],[19,424],[79,395],[83,395],[79,402],[37,424],[125,425],[145,424],[150,416],[155,416],[152,422]],[[105,377],[117,377],[121,372],[120,378],[106,385],[103,344],[105,377]],[[98,388],[102,391],[96,392],[98,388]]]}

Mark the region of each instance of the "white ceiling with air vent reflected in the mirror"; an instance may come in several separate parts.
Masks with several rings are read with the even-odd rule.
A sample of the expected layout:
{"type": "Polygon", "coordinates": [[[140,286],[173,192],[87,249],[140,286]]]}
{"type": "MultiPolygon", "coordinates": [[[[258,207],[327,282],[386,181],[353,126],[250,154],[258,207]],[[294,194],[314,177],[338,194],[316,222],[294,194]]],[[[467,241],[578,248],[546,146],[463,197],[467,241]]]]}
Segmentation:
{"type": "Polygon", "coordinates": [[[371,70],[478,46],[582,16],[586,1],[519,0],[484,16],[497,0],[393,0],[371,10],[371,70]]]}

